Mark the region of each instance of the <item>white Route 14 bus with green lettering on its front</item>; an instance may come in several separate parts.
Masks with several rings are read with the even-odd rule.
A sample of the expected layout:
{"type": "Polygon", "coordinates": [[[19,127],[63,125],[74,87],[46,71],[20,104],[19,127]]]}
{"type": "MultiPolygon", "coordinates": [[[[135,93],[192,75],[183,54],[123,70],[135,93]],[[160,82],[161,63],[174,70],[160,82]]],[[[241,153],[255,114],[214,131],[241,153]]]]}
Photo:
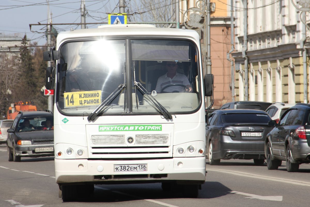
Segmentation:
{"type": "Polygon", "coordinates": [[[55,88],[55,177],[64,201],[123,183],[162,183],[197,197],[213,76],[202,76],[196,31],[71,29],[44,60],[52,64],[46,87],[55,88]]]}

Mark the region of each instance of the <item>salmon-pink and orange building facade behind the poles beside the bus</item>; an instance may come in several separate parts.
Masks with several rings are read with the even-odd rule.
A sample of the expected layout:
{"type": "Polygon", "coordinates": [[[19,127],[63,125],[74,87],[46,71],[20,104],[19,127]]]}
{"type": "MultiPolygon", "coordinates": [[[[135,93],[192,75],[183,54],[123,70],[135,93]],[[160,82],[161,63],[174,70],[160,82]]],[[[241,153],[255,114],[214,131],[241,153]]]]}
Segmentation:
{"type": "MultiPolygon", "coordinates": [[[[231,49],[231,18],[230,0],[210,0],[213,3],[213,10],[210,13],[210,56],[211,56],[211,73],[214,74],[214,105],[213,108],[219,108],[223,104],[232,101],[232,71],[231,62],[227,59],[227,53],[231,49]],[[215,7],[215,8],[214,8],[215,7]]],[[[192,22],[193,15],[196,13],[197,22],[191,25],[197,25],[196,29],[201,37],[201,47],[206,47],[206,34],[204,34],[204,11],[205,1],[186,0],[180,1],[180,23],[184,25],[184,21],[192,22]],[[202,6],[202,7],[201,7],[202,6]],[[185,18],[184,18],[185,17],[185,18]]],[[[185,23],[185,25],[187,25],[185,23]]],[[[206,65],[204,63],[204,68],[206,65]]]]}

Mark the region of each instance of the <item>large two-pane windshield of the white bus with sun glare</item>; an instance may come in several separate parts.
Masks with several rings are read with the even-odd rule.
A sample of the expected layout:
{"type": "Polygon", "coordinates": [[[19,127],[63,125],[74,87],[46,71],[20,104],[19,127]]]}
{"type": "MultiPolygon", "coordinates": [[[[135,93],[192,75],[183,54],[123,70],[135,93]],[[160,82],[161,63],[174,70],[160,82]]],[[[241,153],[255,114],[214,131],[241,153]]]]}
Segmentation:
{"type": "Polygon", "coordinates": [[[170,113],[201,104],[197,47],[190,41],[100,39],[64,43],[59,51],[56,102],[65,114],[91,114],[105,100],[99,115],[159,114],[156,101],[170,113]]]}

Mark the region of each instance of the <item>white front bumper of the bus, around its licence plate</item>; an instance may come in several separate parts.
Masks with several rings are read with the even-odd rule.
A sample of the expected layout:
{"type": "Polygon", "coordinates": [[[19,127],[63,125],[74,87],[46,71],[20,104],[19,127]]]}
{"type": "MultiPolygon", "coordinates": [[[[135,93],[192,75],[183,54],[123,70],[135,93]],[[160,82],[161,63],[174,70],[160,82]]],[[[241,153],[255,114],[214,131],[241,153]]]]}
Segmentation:
{"type": "MultiPolygon", "coordinates": [[[[119,169],[119,168],[118,168],[119,169]]],[[[176,181],[203,184],[206,179],[205,157],[179,157],[156,160],[55,159],[56,183],[117,184],[176,181]],[[117,166],[147,165],[147,171],[115,172],[117,166]]]]}

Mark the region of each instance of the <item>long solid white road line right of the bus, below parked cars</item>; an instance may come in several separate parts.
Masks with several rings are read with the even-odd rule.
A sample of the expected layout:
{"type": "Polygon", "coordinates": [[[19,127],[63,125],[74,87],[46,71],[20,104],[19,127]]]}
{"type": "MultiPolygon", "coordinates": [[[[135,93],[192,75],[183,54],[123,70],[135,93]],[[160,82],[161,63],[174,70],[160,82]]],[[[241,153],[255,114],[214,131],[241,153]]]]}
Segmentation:
{"type": "Polygon", "coordinates": [[[270,177],[270,176],[252,174],[252,173],[245,173],[245,172],[234,171],[234,170],[208,169],[208,171],[228,173],[228,174],[233,174],[233,175],[238,175],[238,176],[243,176],[243,177],[249,177],[249,178],[258,178],[258,179],[263,179],[263,180],[285,182],[285,183],[290,183],[290,184],[294,184],[294,185],[310,186],[310,182],[306,182],[306,181],[291,180],[291,179],[285,179],[285,178],[276,178],[276,177],[270,177]]]}

